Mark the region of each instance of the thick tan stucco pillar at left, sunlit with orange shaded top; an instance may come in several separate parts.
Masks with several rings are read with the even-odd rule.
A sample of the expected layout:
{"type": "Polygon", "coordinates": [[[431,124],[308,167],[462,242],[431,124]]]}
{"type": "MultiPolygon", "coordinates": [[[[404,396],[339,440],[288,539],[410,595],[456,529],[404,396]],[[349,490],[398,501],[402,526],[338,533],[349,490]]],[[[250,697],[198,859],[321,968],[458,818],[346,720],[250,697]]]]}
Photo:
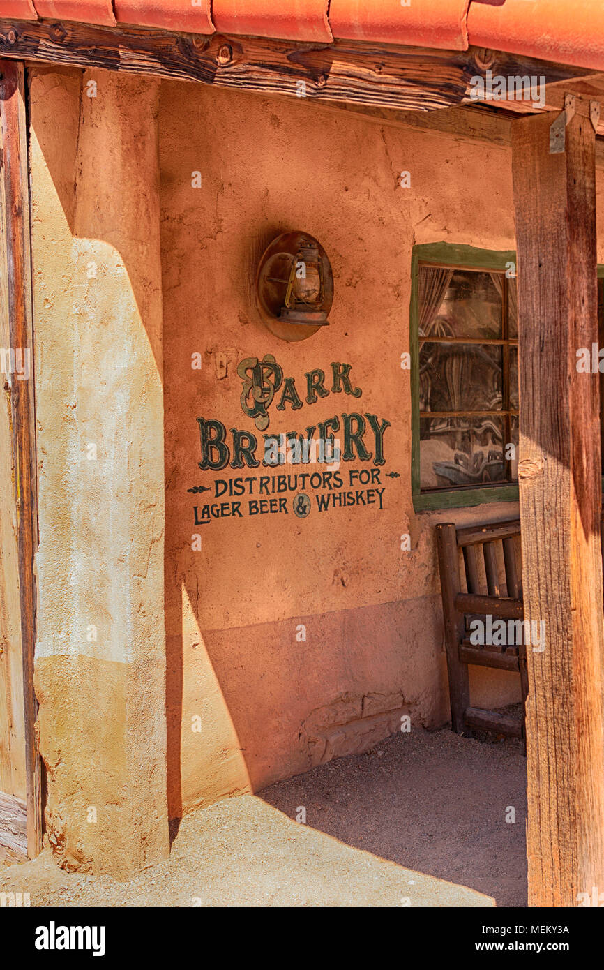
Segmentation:
{"type": "Polygon", "coordinates": [[[169,847],[159,84],[30,81],[47,837],[119,875],[169,847]]]}

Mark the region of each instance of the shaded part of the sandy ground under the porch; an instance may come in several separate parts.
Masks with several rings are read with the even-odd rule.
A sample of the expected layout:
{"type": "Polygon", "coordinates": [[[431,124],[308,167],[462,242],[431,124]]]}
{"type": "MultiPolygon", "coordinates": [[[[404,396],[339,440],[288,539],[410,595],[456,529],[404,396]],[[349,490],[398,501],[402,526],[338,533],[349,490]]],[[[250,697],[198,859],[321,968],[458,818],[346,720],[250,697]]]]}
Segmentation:
{"type": "Polygon", "coordinates": [[[526,759],[516,741],[414,730],[262,792],[347,845],[526,905],[526,759]],[[514,823],[506,822],[506,815],[514,823]]]}

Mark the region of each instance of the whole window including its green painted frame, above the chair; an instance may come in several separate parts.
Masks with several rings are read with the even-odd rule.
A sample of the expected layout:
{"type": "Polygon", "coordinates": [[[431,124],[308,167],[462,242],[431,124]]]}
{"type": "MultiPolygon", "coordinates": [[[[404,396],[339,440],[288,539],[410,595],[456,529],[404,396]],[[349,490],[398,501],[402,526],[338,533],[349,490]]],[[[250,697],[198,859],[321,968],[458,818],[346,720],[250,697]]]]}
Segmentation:
{"type": "Polygon", "coordinates": [[[515,263],[470,246],[414,249],[416,508],[518,498],[515,263]]]}

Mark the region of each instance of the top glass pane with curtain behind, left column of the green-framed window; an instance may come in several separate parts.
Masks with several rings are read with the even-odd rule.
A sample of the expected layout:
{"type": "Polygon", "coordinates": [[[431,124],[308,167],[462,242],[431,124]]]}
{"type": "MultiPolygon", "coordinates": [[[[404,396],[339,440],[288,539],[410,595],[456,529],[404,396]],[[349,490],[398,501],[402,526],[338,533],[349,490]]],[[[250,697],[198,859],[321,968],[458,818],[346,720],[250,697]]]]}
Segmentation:
{"type": "Polygon", "coordinates": [[[420,337],[498,339],[503,274],[420,267],[420,337]]]}

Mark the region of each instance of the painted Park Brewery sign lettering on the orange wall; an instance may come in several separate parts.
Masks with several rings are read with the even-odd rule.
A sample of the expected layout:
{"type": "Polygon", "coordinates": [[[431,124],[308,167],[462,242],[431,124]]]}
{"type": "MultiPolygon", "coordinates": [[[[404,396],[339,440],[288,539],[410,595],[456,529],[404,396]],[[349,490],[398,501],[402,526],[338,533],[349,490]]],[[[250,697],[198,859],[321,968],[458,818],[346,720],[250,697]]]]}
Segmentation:
{"type": "MultiPolygon", "coordinates": [[[[237,369],[240,405],[243,415],[253,419],[256,431],[227,428],[217,418],[198,417],[200,469],[282,469],[285,465],[326,469],[225,476],[215,478],[211,485],[195,485],[188,491],[211,492],[208,499],[214,500],[194,506],[195,525],[205,525],[212,519],[292,512],[303,519],[313,507],[319,512],[367,505],[382,509],[384,435],[391,426],[386,418],[357,408],[308,425],[303,434],[268,432],[272,407],[276,411],[298,411],[304,404],[316,404],[334,394],[360,399],[363,391],[355,385],[351,370],[350,364],[334,362],[329,377],[317,368],[304,373],[303,382],[297,386],[295,378],[285,376],[271,354],[262,361],[257,357],[242,360],[237,369]],[[342,469],[341,462],[372,467],[342,469]]],[[[392,471],[386,476],[395,478],[398,473],[392,471]]]]}

